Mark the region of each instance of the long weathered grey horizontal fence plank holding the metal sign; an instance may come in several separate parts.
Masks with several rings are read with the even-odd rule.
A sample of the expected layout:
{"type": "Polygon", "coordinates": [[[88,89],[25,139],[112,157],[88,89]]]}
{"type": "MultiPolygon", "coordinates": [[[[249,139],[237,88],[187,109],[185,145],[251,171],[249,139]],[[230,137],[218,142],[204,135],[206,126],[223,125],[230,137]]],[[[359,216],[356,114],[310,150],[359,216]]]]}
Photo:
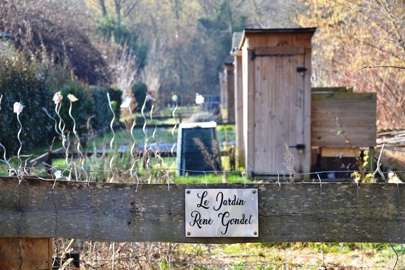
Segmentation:
{"type": "MultiPolygon", "coordinates": [[[[136,184],[57,181],[54,185],[53,180],[33,178],[23,179],[19,186],[18,179],[2,177],[0,237],[17,237],[20,224],[20,237],[109,242],[405,241],[405,185],[246,187],[259,189],[259,237],[203,239],[185,237],[184,196],[185,188],[207,188],[206,184],[140,184],[135,191],[136,184]]],[[[209,184],[208,188],[244,188],[244,184],[209,184]]]]}

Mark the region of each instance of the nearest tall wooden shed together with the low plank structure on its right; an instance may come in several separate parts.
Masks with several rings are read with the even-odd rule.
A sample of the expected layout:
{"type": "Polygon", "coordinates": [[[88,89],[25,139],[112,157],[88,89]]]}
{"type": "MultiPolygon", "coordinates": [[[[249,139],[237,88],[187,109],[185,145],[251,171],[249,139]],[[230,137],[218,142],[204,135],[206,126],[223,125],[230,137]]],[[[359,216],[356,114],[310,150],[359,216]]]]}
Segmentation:
{"type": "Polygon", "coordinates": [[[311,89],[315,30],[245,29],[233,36],[236,146],[249,171],[292,171],[291,152],[293,170],[309,173],[318,153],[346,158],[375,146],[375,93],[311,89]]]}

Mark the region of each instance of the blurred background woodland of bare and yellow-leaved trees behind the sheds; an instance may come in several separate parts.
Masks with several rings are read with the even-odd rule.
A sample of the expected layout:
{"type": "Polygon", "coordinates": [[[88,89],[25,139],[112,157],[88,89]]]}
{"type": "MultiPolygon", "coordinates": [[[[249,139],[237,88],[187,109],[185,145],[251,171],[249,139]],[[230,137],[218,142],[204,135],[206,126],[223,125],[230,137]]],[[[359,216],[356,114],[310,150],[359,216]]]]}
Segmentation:
{"type": "Polygon", "coordinates": [[[317,27],[312,86],[378,92],[378,128],[392,129],[405,123],[405,70],[355,70],[405,66],[404,14],[396,0],[0,0],[0,31],[45,65],[52,91],[73,75],[166,106],[219,94],[233,32],[317,27]]]}

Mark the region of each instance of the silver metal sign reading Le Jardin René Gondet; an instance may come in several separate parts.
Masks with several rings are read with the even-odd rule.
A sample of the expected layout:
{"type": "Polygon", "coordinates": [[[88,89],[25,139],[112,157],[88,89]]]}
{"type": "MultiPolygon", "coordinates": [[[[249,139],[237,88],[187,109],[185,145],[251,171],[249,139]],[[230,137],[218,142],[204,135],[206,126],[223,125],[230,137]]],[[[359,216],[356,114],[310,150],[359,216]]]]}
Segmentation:
{"type": "Polygon", "coordinates": [[[257,188],[186,189],[186,237],[259,237],[257,188]]]}

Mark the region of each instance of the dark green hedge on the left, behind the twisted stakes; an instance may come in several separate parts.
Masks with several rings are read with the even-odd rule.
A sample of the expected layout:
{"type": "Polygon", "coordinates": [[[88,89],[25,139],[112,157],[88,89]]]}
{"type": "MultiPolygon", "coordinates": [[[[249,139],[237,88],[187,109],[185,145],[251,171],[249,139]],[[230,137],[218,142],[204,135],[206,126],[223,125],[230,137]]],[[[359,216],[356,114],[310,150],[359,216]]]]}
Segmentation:
{"type": "MultiPolygon", "coordinates": [[[[107,93],[115,104],[115,113],[119,115],[121,91],[89,87],[82,81],[76,80],[74,75],[69,80],[56,81],[55,74],[63,73],[63,69],[46,61],[36,60],[35,57],[27,61],[26,56],[14,49],[6,42],[0,43],[0,143],[8,154],[15,154],[20,147],[18,131],[20,124],[17,114],[13,112],[15,102],[24,105],[19,114],[22,125],[20,139],[22,151],[27,151],[38,145],[51,144],[56,134],[54,121],[51,120],[43,107],[58,119],[55,104],[52,101],[54,94],[61,92],[64,99],[60,115],[66,123],[66,130],[72,130],[73,120],[69,116],[70,102],[67,94],[73,94],[78,101],[73,102],[71,114],[76,121],[76,130],[79,133],[87,132],[87,121],[94,129],[108,126],[112,119],[112,112],[108,106],[107,93]],[[59,69],[58,69],[59,68],[59,69]]],[[[0,149],[2,151],[3,149],[0,149]]]]}

